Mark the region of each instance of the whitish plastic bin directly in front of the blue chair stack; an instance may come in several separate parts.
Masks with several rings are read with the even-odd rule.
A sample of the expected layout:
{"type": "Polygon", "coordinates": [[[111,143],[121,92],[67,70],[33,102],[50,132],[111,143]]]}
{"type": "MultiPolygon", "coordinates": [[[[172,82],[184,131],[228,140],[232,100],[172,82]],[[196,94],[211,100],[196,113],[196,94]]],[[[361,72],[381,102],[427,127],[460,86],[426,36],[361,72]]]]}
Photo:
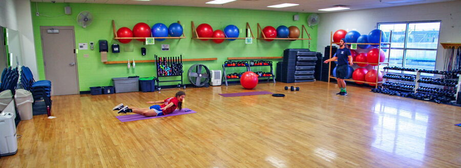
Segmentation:
{"type": "Polygon", "coordinates": [[[18,89],[16,90],[14,99],[16,101],[17,112],[19,113],[21,120],[32,119],[32,103],[34,102],[32,93],[24,89],[18,89]]]}

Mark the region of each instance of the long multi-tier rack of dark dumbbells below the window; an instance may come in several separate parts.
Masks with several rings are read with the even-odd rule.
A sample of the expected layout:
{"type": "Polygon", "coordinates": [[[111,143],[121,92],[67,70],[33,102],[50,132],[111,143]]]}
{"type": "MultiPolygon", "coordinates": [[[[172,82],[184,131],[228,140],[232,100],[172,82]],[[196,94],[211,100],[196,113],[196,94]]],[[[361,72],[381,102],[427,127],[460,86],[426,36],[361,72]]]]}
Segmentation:
{"type": "Polygon", "coordinates": [[[461,85],[461,70],[437,71],[402,67],[384,67],[383,69],[386,71],[397,70],[415,72],[416,75],[387,73],[383,78],[407,81],[407,83],[385,81],[382,86],[371,89],[372,92],[433,101],[436,103],[461,105],[461,93],[459,92],[461,85]],[[443,75],[443,78],[421,77],[421,73],[443,75]],[[420,86],[420,83],[429,85],[420,86]],[[457,101],[455,102],[455,100],[457,101]]]}

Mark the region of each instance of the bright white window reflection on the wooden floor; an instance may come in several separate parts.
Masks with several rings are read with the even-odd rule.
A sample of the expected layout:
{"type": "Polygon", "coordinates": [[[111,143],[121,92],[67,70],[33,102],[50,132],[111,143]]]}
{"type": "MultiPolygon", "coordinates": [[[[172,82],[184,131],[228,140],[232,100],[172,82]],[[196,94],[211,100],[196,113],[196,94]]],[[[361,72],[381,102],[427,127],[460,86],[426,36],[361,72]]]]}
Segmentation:
{"type": "MultiPolygon", "coordinates": [[[[395,106],[395,104],[393,104],[395,106]]],[[[374,113],[379,119],[373,127],[374,148],[416,160],[423,160],[426,147],[428,116],[418,112],[387,107],[377,103],[374,113]]]]}

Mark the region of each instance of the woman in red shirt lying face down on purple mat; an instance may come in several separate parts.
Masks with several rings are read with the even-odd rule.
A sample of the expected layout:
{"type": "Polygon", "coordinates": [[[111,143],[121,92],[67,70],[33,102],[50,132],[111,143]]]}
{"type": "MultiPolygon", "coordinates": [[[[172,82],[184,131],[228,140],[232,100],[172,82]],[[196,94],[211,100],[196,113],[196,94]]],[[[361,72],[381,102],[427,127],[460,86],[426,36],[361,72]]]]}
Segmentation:
{"type": "Polygon", "coordinates": [[[182,101],[184,100],[185,93],[183,91],[179,91],[176,93],[175,97],[170,97],[164,100],[158,101],[148,101],[147,103],[162,103],[161,105],[154,105],[149,108],[137,108],[137,107],[128,107],[123,106],[123,103],[118,104],[112,110],[118,110],[118,113],[136,113],[146,117],[153,117],[153,116],[162,116],[173,113],[176,108],[179,110],[182,109],[182,101]]]}

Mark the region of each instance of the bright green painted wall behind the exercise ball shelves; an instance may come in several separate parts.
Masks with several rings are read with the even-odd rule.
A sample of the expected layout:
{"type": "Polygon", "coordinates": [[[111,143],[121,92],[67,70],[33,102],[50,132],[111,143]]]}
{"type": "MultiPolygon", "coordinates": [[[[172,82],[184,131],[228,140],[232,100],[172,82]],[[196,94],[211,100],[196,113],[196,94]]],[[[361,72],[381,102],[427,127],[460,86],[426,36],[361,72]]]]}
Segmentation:
{"type": "MultiPolygon", "coordinates": [[[[37,66],[40,79],[45,79],[43,65],[43,51],[40,40],[40,26],[74,26],[75,44],[97,43],[99,39],[106,39],[109,45],[120,44],[121,52],[114,54],[108,53],[108,60],[144,60],[153,59],[154,54],[159,56],[178,56],[183,58],[209,58],[217,57],[217,61],[184,62],[184,71],[193,64],[204,64],[209,69],[220,70],[221,65],[227,57],[248,57],[248,56],[282,56],[283,50],[287,48],[308,48],[308,40],[274,40],[264,41],[254,39],[253,44],[245,44],[244,40],[224,41],[222,44],[214,44],[212,41],[201,41],[191,39],[191,21],[198,26],[207,23],[216,29],[223,29],[227,25],[236,25],[241,29],[241,37],[244,36],[246,22],[250,24],[254,35],[257,34],[257,23],[262,28],[280,25],[307,27],[308,13],[296,12],[276,12],[263,10],[244,10],[244,9],[223,9],[223,8],[198,8],[198,7],[173,7],[173,6],[142,6],[142,5],[107,5],[107,4],[78,4],[78,3],[35,3],[32,2],[32,22],[34,29],[35,50],[37,54],[37,66]],[[42,15],[35,16],[37,5],[38,11],[42,15]],[[64,7],[72,7],[71,15],[64,15],[64,7]],[[77,25],[76,18],[81,11],[90,11],[94,16],[94,22],[87,28],[77,25]],[[293,15],[299,14],[300,20],[294,21],[293,15]],[[133,40],[129,44],[121,44],[112,39],[113,31],[111,20],[115,20],[116,28],[128,27],[130,29],[136,23],[144,22],[149,25],[163,23],[167,26],[181,21],[184,28],[184,39],[166,39],[156,41],[156,45],[144,46],[142,42],[133,40]],[[243,32],[243,34],[242,34],[243,32]],[[170,51],[161,51],[161,44],[169,44],[170,51]],[[147,49],[147,55],[141,56],[140,48],[147,49]]],[[[310,49],[315,51],[317,48],[317,26],[307,27],[312,40],[310,49]]],[[[273,60],[281,61],[281,60],[273,60]]],[[[127,64],[104,65],[100,61],[98,47],[95,50],[80,50],[77,54],[78,78],[80,91],[88,91],[93,86],[110,86],[111,78],[138,75],[141,77],[155,76],[155,66],[153,63],[138,63],[136,68],[128,69],[127,64]],[[89,54],[88,58],[83,54],[89,54]]],[[[274,64],[275,65],[275,64],[274,64]]],[[[254,69],[254,71],[268,71],[268,68],[254,69]]],[[[234,68],[231,72],[242,72],[242,69],[234,68]]],[[[230,72],[229,72],[230,73],[230,72]]],[[[184,73],[184,78],[186,78],[184,73]]],[[[175,79],[175,77],[171,77],[175,79]]],[[[186,81],[188,83],[188,81],[186,81]]],[[[164,85],[174,85],[176,83],[163,83],[164,85]]]]}

